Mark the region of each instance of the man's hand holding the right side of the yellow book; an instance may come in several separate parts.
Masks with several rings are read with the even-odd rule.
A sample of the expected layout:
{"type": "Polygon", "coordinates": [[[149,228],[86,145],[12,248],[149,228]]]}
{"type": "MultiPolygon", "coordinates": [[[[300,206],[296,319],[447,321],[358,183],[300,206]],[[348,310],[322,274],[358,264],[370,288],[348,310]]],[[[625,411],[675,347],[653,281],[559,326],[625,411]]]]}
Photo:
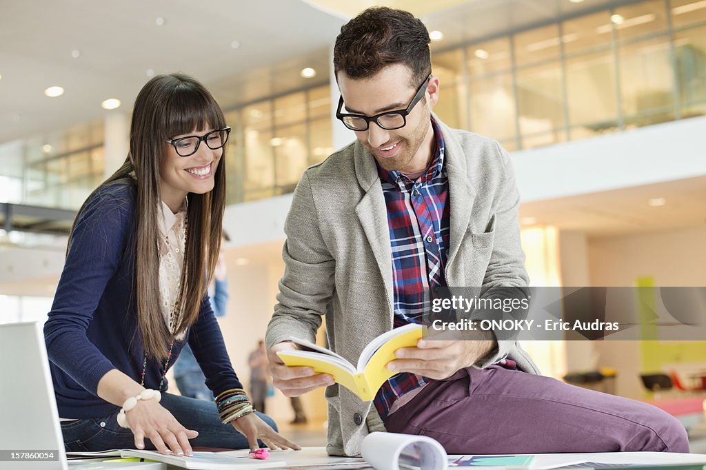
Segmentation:
{"type": "Polygon", "coordinates": [[[496,346],[492,333],[478,340],[419,339],[416,348],[397,349],[397,359],[388,362],[387,368],[431,379],[444,379],[457,370],[477,363],[496,346]]]}

